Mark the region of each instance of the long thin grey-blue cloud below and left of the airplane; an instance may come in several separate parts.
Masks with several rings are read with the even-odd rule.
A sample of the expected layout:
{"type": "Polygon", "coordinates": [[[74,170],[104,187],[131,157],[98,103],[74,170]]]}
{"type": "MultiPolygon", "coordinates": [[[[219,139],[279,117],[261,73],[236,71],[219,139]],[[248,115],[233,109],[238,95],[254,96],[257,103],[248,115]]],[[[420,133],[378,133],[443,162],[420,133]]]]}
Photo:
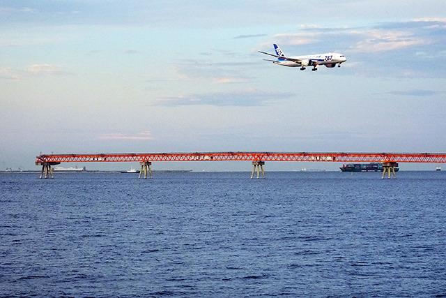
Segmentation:
{"type": "Polygon", "coordinates": [[[155,101],[155,105],[214,105],[254,107],[268,105],[274,101],[291,98],[290,93],[269,93],[261,91],[236,91],[208,94],[194,94],[191,96],[163,97],[155,101]]]}

